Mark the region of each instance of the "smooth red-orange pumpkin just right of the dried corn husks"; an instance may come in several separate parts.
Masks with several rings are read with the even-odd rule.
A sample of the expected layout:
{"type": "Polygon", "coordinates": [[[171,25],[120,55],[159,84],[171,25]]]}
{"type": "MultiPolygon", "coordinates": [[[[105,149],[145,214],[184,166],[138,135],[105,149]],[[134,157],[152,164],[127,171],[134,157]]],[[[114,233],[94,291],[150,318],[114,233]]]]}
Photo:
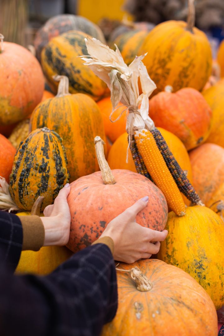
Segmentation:
{"type": "Polygon", "coordinates": [[[156,127],[178,136],[187,150],[205,142],[211,130],[211,108],[203,95],[192,88],[158,93],[149,100],[149,116],[156,127]]]}

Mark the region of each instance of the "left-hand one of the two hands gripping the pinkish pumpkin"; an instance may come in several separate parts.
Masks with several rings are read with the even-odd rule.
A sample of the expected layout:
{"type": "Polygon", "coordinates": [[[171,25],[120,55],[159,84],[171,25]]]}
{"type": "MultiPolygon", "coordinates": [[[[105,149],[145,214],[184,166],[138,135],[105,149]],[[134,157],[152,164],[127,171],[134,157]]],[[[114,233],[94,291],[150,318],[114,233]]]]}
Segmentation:
{"type": "Polygon", "coordinates": [[[54,204],[48,205],[44,209],[44,217],[40,217],[45,229],[44,246],[63,246],[69,241],[71,215],[67,197],[70,190],[70,184],[65,184],[54,204]]]}

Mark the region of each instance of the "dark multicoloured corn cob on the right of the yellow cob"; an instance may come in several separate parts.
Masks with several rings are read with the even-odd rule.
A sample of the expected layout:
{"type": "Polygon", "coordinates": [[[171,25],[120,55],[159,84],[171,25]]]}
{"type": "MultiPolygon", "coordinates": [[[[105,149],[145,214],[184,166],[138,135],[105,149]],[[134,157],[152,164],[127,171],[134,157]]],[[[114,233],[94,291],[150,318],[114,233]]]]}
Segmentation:
{"type": "Polygon", "coordinates": [[[194,190],[194,187],[189,182],[186,174],[180,168],[177,160],[174,158],[163,135],[156,127],[151,130],[151,133],[179,190],[187,197],[188,200],[191,201],[191,203],[203,205],[198,194],[194,190]]]}

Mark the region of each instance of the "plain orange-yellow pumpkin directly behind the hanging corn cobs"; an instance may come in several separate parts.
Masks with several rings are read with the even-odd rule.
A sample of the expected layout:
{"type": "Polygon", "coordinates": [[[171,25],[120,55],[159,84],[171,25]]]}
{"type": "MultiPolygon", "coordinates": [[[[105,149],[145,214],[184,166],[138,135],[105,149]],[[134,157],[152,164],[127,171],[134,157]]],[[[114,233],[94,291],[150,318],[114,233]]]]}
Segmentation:
{"type": "MultiPolygon", "coordinates": [[[[173,153],[175,159],[179,163],[180,167],[185,170],[187,178],[192,183],[192,171],[189,155],[187,150],[180,139],[173,133],[166,131],[163,128],[158,127],[161,134],[163,135],[166,143],[168,144],[171,152],[173,153]]],[[[109,151],[107,162],[111,169],[128,169],[136,172],[135,164],[131,156],[130,150],[128,150],[128,163],[126,163],[128,146],[128,134],[123,133],[119,138],[113,143],[109,151]]],[[[183,195],[182,195],[183,196],[183,195]]],[[[190,205],[190,201],[183,196],[184,203],[190,205]]]]}

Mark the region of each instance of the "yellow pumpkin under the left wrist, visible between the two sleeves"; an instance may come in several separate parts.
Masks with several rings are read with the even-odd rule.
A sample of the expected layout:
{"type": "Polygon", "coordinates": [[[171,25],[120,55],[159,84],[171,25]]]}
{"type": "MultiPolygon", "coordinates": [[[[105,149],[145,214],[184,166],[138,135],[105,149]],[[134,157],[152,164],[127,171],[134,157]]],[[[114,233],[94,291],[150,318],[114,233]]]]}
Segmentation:
{"type": "MultiPolygon", "coordinates": [[[[38,199],[37,199],[38,200],[38,199]]],[[[37,202],[37,201],[36,201],[37,202]]],[[[39,208],[40,209],[40,208],[39,208]]],[[[40,214],[40,211],[19,212],[17,216],[29,216],[40,214]]],[[[65,246],[44,246],[39,251],[22,251],[15,273],[31,273],[47,275],[62,262],[67,260],[72,252],[65,246]]]]}

